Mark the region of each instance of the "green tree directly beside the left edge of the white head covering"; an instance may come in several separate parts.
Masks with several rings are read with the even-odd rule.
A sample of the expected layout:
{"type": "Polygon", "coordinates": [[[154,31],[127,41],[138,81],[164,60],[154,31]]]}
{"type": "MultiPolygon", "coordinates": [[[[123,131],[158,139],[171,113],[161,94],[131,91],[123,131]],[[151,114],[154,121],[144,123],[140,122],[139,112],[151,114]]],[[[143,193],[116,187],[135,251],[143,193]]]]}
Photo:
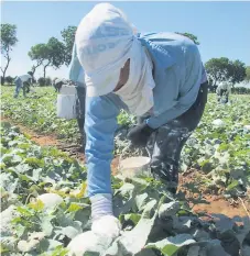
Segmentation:
{"type": "Polygon", "coordinates": [[[76,26],[69,25],[67,29],[61,31],[63,43],[65,46],[65,65],[68,66],[72,60],[72,49],[75,42],[76,26]]]}

